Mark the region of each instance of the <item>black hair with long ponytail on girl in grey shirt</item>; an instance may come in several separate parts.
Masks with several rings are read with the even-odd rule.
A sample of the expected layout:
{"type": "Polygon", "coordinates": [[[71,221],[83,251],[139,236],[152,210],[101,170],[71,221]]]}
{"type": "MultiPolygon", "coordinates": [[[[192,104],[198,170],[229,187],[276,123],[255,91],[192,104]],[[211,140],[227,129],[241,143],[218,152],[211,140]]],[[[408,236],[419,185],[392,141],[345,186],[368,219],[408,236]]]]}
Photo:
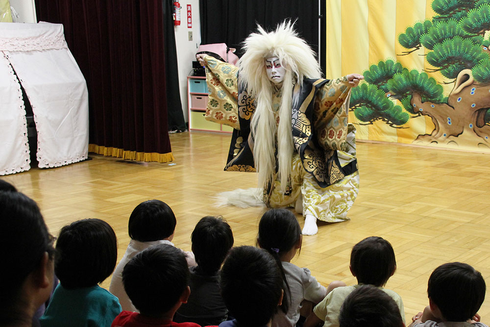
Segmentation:
{"type": "Polygon", "coordinates": [[[270,252],[277,260],[281,276],[285,284],[285,292],[281,309],[288,312],[291,304],[291,290],[281,263],[281,255],[289,252],[301,238],[301,227],[294,213],[288,209],[270,209],[266,211],[259,222],[257,244],[270,252]]]}

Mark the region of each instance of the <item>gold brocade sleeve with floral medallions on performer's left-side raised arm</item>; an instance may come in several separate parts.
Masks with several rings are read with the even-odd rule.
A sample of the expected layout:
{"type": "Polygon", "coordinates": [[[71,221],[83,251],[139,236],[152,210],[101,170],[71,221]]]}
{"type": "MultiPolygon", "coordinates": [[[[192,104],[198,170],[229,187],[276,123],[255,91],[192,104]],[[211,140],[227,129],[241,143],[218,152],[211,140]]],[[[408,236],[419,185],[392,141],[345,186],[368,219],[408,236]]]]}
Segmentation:
{"type": "Polygon", "coordinates": [[[240,129],[238,122],[238,67],[210,55],[206,61],[209,101],[204,119],[240,129]]]}

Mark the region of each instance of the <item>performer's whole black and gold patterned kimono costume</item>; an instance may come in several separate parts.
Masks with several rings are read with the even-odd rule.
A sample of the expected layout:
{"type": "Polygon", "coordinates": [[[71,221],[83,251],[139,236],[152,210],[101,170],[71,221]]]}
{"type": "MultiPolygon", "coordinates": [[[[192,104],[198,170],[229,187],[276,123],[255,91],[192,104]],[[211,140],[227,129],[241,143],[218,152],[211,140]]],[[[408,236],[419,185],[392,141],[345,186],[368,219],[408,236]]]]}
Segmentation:
{"type": "MultiPolygon", "coordinates": [[[[226,171],[254,172],[249,145],[254,100],[238,89],[238,68],[210,56],[206,80],[210,92],[206,119],[234,127],[226,171]]],[[[278,115],[281,89],[274,89],[272,106],[278,115]]],[[[305,79],[292,108],[294,155],[286,192],[276,179],[264,188],[264,202],[285,207],[303,197],[303,215],[337,222],[347,219],[359,191],[355,159],[355,128],[347,122],[350,85],[345,78],[305,79]]]]}

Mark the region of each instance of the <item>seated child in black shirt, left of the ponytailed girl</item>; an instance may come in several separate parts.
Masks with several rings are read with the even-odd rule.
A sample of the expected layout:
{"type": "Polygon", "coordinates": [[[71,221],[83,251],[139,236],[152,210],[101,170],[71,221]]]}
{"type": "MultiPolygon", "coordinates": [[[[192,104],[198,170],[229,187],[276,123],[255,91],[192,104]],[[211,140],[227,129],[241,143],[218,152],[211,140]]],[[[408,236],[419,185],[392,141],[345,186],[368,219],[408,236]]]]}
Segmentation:
{"type": "Polygon", "coordinates": [[[219,272],[233,246],[233,233],[222,218],[207,216],[196,224],[191,239],[197,262],[197,267],[190,268],[191,295],[177,310],[173,321],[219,325],[228,313],[221,298],[219,272]]]}

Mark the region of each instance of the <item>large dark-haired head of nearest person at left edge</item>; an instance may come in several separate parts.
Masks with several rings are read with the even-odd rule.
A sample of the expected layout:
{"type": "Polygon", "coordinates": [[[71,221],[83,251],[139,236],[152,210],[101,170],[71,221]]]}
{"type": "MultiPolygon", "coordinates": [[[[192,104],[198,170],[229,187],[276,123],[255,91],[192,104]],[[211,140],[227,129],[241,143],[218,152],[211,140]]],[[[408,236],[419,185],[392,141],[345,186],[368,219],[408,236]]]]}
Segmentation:
{"type": "Polygon", "coordinates": [[[0,325],[36,326],[53,288],[54,238],[36,202],[8,185],[0,182],[0,325]]]}

